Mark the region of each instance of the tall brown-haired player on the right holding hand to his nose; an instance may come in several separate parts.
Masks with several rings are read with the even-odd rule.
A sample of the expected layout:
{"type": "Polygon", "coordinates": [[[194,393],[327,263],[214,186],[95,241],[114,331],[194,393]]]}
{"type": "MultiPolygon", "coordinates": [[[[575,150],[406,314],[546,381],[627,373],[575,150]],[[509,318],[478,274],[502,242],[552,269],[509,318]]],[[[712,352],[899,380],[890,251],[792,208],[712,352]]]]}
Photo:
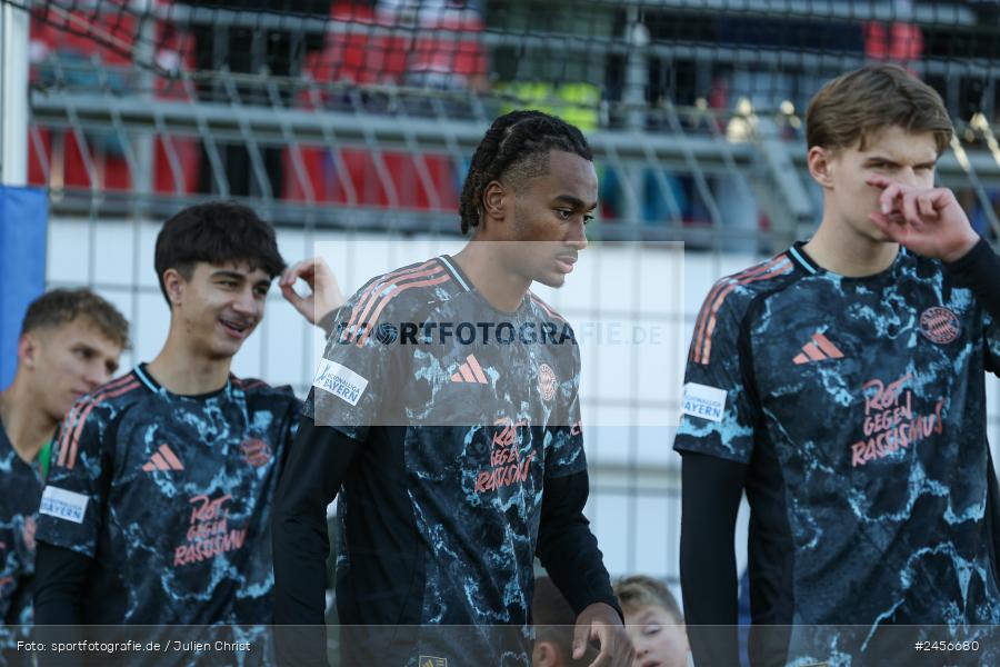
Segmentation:
{"type": "Polygon", "coordinates": [[[933,187],[948,113],[870,66],[827,83],[806,125],[816,236],[719,281],[694,326],[674,448],[697,665],[738,664],[734,629],[700,626],[737,621],[743,490],[754,665],[916,664],[928,637],[884,626],[1000,623],[984,389],[1000,261],[933,187]]]}

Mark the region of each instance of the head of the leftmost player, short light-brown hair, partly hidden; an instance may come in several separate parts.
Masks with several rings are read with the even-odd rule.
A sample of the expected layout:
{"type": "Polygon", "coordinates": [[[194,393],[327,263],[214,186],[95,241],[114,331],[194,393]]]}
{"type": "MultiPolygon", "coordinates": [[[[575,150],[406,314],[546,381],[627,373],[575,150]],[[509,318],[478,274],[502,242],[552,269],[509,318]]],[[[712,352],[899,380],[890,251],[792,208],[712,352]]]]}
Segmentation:
{"type": "Polygon", "coordinates": [[[129,322],[89,289],[53,289],[28,307],[18,341],[18,378],[47,416],[61,420],[73,402],[118,370],[129,322]]]}

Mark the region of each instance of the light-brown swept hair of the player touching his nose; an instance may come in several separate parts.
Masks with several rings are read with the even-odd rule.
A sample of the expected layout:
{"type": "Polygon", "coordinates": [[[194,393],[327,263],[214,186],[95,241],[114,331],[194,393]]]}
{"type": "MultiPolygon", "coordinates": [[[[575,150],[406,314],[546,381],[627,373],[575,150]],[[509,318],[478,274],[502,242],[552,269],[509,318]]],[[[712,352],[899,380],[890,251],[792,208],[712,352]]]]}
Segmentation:
{"type": "Polygon", "coordinates": [[[940,156],[953,128],[938,92],[898,64],[868,64],[828,81],[806,110],[809,148],[831,150],[858,143],[889,127],[932,132],[940,156]]]}

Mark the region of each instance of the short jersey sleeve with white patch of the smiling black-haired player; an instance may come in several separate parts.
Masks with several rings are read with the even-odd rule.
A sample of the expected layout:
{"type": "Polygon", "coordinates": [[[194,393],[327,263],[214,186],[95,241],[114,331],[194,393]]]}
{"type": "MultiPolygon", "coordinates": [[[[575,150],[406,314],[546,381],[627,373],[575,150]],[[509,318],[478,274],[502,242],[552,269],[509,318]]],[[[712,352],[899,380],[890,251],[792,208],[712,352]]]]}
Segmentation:
{"type": "Polygon", "coordinates": [[[113,469],[107,416],[84,397],[67,415],[52,450],[36,539],[93,558],[113,469]]]}

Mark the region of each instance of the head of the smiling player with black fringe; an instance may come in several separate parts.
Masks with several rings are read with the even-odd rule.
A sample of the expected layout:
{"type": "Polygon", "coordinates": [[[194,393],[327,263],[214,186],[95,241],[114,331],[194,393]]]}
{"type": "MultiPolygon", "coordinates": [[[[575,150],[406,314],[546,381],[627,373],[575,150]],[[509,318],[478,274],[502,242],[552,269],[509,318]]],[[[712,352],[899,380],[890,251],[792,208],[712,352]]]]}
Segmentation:
{"type": "Polygon", "coordinates": [[[171,335],[213,358],[232,357],[263,317],[284,269],[274,230],[234,202],[192,206],[163,225],[156,269],[171,335]]]}

